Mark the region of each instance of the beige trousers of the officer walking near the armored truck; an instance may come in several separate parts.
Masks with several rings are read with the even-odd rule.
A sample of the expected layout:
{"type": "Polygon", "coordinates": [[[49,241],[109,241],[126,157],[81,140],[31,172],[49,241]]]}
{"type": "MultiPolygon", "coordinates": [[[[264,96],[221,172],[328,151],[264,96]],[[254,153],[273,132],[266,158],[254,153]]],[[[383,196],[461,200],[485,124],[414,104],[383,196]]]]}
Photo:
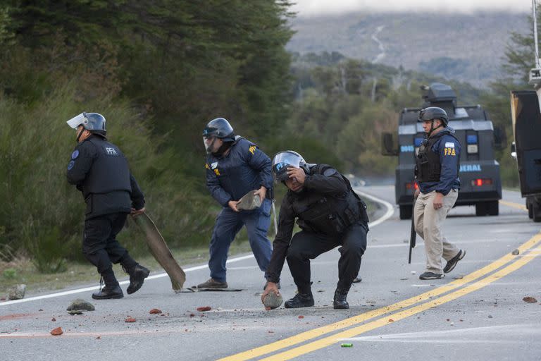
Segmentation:
{"type": "Polygon", "coordinates": [[[442,274],[442,257],[449,261],[459,253],[459,249],[449,243],[442,233],[443,221],[459,197],[459,192],[451,190],[447,193],[440,209],[434,209],[435,197],[436,191],[419,194],[413,207],[413,222],[415,231],[425,240],[426,271],[442,274]]]}

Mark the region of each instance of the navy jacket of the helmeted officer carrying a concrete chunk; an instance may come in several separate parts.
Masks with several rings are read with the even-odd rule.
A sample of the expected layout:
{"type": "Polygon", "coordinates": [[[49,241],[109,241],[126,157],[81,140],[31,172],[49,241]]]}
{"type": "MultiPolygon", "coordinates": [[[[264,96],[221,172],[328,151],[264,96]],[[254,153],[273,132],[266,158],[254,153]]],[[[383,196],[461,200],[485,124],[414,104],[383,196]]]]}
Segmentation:
{"type": "Polygon", "coordinates": [[[206,158],[206,187],[216,202],[228,207],[230,200],[240,200],[250,190],[263,185],[268,194],[273,188],[270,158],[254,143],[237,137],[228,154],[206,158]]]}

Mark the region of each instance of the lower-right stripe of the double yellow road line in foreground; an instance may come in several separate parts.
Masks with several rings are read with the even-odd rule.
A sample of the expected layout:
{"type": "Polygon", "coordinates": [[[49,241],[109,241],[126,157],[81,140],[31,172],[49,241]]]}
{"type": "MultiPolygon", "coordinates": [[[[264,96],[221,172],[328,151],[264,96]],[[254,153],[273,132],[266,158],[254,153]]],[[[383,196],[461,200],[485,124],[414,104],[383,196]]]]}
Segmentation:
{"type": "MultiPolygon", "coordinates": [[[[535,250],[536,251],[541,250],[541,246],[537,247],[535,250]]],[[[297,348],[292,348],[291,350],[287,350],[283,353],[278,353],[276,355],[266,357],[262,359],[261,361],[263,360],[266,360],[266,361],[291,360],[293,357],[298,357],[300,355],[304,355],[306,353],[311,353],[315,350],[328,347],[334,343],[337,343],[343,340],[344,338],[352,338],[354,336],[359,336],[359,334],[363,334],[367,331],[371,331],[373,329],[377,329],[378,327],[382,327],[387,324],[390,324],[389,322],[390,317],[392,317],[392,319],[396,322],[396,321],[399,321],[400,319],[405,319],[406,317],[413,316],[413,314],[418,314],[419,312],[423,312],[430,308],[443,305],[444,303],[455,300],[456,298],[460,298],[464,295],[467,295],[468,293],[472,293],[475,290],[479,290],[480,288],[483,288],[487,286],[488,284],[501,279],[507,274],[510,274],[511,272],[516,271],[517,269],[528,264],[528,262],[530,262],[532,259],[534,259],[537,256],[538,256],[538,253],[536,252],[535,256],[533,257],[518,257],[518,260],[516,262],[512,262],[507,267],[504,267],[503,269],[495,272],[494,274],[487,276],[485,279],[472,283],[471,285],[468,285],[464,288],[460,288],[459,290],[456,290],[452,293],[449,293],[440,298],[437,298],[436,300],[431,300],[431,301],[423,303],[422,305],[411,307],[408,310],[397,312],[387,317],[382,317],[373,322],[369,322],[368,324],[363,324],[361,326],[354,327],[353,329],[342,331],[342,332],[339,332],[338,334],[334,334],[332,336],[322,338],[321,340],[313,341],[311,343],[307,343],[306,345],[301,345],[297,348]]]]}

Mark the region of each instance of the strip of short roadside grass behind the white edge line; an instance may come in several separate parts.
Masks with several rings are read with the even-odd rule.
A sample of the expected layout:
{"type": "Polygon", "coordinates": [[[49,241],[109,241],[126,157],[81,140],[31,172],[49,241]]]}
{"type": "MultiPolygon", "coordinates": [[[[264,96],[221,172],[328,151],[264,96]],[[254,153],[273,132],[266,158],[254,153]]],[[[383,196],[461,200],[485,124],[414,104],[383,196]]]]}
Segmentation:
{"type": "MultiPolygon", "coordinates": [[[[368,207],[368,216],[373,220],[373,216],[378,210],[378,204],[366,198],[364,201],[368,207]]],[[[273,227],[271,225],[270,233],[274,232],[273,227]]],[[[299,229],[296,228],[295,231],[299,231],[299,229]]],[[[270,240],[272,241],[273,237],[270,237],[270,240]]],[[[195,264],[206,264],[209,260],[208,246],[171,250],[171,252],[183,268],[195,264]]],[[[247,252],[251,252],[251,249],[247,240],[246,230],[243,228],[237,236],[237,240],[232,243],[229,254],[232,257],[247,252]]],[[[146,255],[135,257],[135,259],[153,271],[153,273],[163,271],[150,252],[146,255]]],[[[127,277],[119,264],[114,265],[113,270],[118,279],[125,279],[127,277]]],[[[203,282],[206,279],[188,280],[187,282],[189,284],[187,283],[185,286],[194,286],[199,281],[203,282]]],[[[20,283],[27,285],[27,295],[32,295],[92,283],[97,285],[99,283],[99,274],[96,267],[89,263],[68,262],[67,270],[64,272],[41,274],[36,270],[34,264],[32,264],[32,260],[28,258],[20,257],[13,262],[0,262],[0,298],[7,299],[8,289],[20,283]]]]}

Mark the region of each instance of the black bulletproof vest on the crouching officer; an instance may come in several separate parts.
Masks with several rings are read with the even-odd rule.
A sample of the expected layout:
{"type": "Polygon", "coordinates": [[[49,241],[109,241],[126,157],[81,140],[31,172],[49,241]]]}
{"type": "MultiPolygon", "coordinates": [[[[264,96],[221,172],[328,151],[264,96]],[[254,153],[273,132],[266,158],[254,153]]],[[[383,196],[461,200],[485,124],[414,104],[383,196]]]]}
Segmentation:
{"type": "MultiPolygon", "coordinates": [[[[323,174],[323,171],[320,166],[311,169],[312,174],[323,174]]],[[[347,178],[344,180],[349,189],[340,195],[324,195],[311,190],[292,195],[292,207],[300,228],[330,235],[344,232],[357,221],[368,223],[366,204],[356,197],[347,178]]]]}

